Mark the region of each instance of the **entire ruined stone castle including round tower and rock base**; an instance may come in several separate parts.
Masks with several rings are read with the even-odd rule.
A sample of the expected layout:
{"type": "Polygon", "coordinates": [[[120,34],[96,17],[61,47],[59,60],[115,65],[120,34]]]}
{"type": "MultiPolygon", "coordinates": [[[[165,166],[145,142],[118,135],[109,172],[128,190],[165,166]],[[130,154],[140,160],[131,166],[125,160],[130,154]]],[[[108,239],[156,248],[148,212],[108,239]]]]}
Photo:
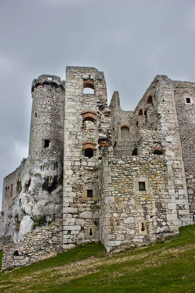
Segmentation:
{"type": "Polygon", "coordinates": [[[148,244],[192,224],[194,89],[156,76],[123,111],[118,92],[108,107],[96,68],[35,79],[29,156],[4,178],[2,268],[90,241],[108,252],[148,244]]]}

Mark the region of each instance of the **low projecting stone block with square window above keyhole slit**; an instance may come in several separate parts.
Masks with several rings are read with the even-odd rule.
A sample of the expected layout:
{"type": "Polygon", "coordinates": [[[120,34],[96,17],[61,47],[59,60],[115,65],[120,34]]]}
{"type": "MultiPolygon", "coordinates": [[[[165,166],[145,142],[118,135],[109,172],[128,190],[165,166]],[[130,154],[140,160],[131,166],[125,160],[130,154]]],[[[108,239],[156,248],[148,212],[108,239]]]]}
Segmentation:
{"type": "Polygon", "coordinates": [[[107,251],[178,232],[172,177],[162,156],[106,157],[100,178],[100,239],[107,251]],[[139,191],[139,182],[146,190],[139,191]]]}

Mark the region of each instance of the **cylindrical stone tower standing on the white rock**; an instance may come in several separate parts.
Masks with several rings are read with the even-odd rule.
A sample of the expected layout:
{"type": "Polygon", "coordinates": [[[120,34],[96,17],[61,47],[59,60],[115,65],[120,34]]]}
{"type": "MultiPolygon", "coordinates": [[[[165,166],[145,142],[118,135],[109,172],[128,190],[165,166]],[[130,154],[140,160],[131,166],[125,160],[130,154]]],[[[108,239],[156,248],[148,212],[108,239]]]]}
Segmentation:
{"type": "Polygon", "coordinates": [[[63,161],[64,88],[65,81],[55,75],[41,75],[32,83],[31,159],[63,161]]]}

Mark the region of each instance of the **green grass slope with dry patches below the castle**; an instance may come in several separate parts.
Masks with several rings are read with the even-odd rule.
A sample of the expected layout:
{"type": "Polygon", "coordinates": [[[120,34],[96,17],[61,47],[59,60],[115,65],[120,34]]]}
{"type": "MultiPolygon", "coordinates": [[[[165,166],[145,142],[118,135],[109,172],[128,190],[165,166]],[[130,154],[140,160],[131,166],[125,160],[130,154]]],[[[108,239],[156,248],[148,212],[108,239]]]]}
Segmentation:
{"type": "Polygon", "coordinates": [[[0,273],[3,293],[195,292],[195,225],[145,248],[107,254],[89,243],[0,273]]]}

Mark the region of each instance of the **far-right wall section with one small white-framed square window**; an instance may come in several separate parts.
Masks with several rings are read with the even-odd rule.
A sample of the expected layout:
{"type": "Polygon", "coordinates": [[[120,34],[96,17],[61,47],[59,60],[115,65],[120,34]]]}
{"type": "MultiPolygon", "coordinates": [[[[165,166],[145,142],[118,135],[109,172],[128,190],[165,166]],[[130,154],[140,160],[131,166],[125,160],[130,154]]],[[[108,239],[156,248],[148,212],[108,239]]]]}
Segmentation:
{"type": "Polygon", "coordinates": [[[195,214],[195,83],[172,82],[186,172],[190,212],[195,214]],[[190,98],[191,103],[186,102],[190,98]]]}

